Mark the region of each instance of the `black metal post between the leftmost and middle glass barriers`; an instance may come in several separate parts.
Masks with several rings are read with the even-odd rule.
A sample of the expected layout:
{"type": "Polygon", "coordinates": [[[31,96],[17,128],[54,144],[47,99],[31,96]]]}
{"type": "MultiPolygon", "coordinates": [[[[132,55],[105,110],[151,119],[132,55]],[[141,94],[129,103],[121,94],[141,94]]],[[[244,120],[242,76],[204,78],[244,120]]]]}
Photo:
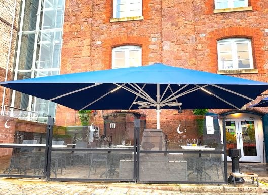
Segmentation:
{"type": "Polygon", "coordinates": [[[46,180],[48,180],[50,177],[53,123],[54,123],[54,118],[52,118],[51,116],[48,116],[46,150],[45,150],[45,166],[44,166],[44,175],[46,177],[46,180]]]}

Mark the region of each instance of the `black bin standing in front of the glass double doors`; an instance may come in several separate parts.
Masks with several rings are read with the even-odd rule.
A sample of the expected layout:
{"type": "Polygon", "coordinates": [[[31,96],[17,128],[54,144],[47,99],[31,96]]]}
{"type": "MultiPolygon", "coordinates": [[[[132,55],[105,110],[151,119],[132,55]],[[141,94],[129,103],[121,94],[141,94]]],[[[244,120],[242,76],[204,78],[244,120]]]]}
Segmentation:
{"type": "MultiPolygon", "coordinates": [[[[236,149],[236,148],[229,149],[229,157],[232,159],[232,172],[233,173],[240,173],[239,159],[241,158],[241,150],[236,149]]],[[[234,183],[234,179],[236,180],[236,183],[244,183],[245,182],[243,177],[235,178],[233,175],[230,175],[230,177],[228,178],[228,181],[234,183]]]]}

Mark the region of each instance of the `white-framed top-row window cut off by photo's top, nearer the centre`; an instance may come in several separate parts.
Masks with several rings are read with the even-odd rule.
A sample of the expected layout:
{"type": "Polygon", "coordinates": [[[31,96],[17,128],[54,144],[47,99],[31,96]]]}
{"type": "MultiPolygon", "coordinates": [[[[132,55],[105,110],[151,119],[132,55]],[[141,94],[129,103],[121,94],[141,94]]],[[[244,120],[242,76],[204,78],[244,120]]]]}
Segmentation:
{"type": "Polygon", "coordinates": [[[142,0],[113,0],[113,18],[142,16],[142,0]]]}

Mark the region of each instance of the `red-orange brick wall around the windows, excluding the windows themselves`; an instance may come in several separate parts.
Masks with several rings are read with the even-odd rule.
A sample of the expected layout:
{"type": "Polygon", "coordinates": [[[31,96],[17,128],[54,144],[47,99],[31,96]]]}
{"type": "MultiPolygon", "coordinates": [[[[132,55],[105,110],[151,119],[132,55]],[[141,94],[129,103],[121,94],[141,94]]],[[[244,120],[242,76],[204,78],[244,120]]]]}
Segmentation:
{"type": "MultiPolygon", "coordinates": [[[[217,40],[235,36],[252,39],[254,68],[258,73],[232,76],[267,82],[268,3],[250,0],[249,6],[252,11],[214,14],[214,0],[144,0],[144,20],[110,22],[112,0],[67,0],[61,73],[110,69],[111,50],[121,45],[141,46],[143,65],[163,62],[217,73],[217,40]]],[[[104,111],[107,112],[111,111],[104,111]]],[[[154,110],[139,112],[147,113],[147,128],[156,127],[154,110]]],[[[186,113],[192,116],[191,111],[186,113]]],[[[58,106],[56,124],[73,125],[73,114],[73,110],[58,106]]],[[[161,128],[165,132],[174,130],[180,117],[177,111],[162,111],[161,128]]]]}

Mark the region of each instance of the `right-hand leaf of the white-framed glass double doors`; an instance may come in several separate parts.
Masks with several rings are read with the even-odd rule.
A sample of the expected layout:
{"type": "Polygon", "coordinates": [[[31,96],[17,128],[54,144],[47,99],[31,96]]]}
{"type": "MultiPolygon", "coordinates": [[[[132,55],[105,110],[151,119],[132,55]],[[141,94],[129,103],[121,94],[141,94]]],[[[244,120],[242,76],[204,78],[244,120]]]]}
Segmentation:
{"type": "Polygon", "coordinates": [[[238,119],[241,161],[260,162],[257,120],[238,119]]]}

